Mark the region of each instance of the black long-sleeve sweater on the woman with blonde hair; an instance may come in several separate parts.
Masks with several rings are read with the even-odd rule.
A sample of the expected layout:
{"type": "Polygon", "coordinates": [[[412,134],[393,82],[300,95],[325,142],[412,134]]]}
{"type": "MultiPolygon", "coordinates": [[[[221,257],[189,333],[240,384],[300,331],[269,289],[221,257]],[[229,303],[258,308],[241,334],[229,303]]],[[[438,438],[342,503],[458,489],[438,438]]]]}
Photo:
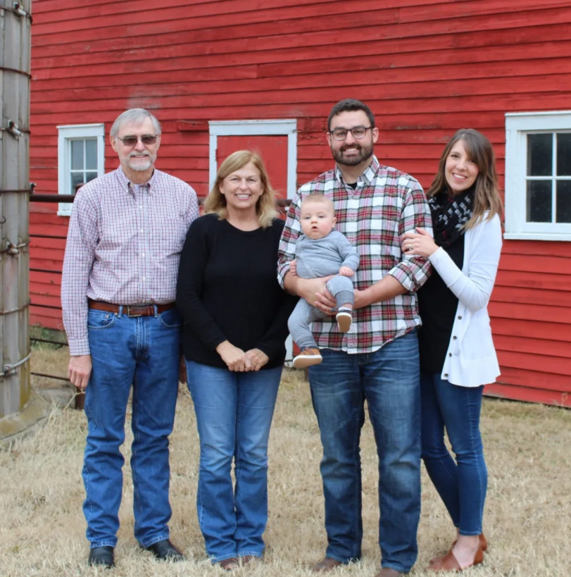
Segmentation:
{"type": "Polygon", "coordinates": [[[184,356],[225,368],[215,348],[225,340],[260,349],[274,368],[284,363],[287,319],[297,297],[277,282],[277,247],[284,222],[244,231],[215,214],[197,218],[187,232],[177,280],[184,319],[184,356]]]}

